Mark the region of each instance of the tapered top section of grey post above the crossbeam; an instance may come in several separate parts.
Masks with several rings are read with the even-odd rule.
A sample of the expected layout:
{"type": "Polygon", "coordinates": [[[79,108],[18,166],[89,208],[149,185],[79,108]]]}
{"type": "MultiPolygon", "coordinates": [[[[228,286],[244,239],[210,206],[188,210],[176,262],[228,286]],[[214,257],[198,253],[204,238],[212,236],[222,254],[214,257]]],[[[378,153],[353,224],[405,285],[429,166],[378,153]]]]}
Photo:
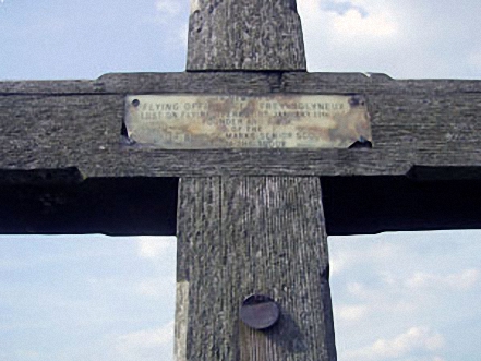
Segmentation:
{"type": "Polygon", "coordinates": [[[305,71],[296,0],[192,0],[188,71],[305,71]]]}

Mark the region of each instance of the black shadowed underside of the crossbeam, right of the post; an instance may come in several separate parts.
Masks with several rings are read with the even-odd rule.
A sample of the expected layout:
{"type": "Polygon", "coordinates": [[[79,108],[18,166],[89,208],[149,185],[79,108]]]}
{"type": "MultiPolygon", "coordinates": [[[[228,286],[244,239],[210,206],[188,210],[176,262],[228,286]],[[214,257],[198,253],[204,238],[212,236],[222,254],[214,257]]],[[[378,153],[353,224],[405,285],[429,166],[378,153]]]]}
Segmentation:
{"type": "Polygon", "coordinates": [[[481,229],[481,180],[322,178],[329,236],[481,229]]]}

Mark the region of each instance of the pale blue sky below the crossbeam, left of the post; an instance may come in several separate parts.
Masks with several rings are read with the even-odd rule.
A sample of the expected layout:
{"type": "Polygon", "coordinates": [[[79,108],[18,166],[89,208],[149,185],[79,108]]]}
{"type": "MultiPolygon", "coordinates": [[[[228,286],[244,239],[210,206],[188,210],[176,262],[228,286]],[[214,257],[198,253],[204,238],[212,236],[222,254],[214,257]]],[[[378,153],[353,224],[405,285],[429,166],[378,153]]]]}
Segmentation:
{"type": "Polygon", "coordinates": [[[175,238],[0,239],[0,360],[172,357],[175,238]]]}

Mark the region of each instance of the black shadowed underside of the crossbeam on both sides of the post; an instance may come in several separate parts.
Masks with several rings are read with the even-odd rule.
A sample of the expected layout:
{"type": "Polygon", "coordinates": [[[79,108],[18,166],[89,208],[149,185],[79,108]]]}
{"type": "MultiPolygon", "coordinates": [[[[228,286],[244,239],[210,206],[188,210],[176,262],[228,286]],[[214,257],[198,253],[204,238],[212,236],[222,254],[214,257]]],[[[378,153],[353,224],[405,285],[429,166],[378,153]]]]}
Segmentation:
{"type": "MultiPolygon", "coordinates": [[[[426,175],[321,178],[327,233],[481,229],[481,180],[426,175]]],[[[3,170],[0,233],[175,236],[177,189],[177,178],[84,180],[75,168],[3,170]]]]}

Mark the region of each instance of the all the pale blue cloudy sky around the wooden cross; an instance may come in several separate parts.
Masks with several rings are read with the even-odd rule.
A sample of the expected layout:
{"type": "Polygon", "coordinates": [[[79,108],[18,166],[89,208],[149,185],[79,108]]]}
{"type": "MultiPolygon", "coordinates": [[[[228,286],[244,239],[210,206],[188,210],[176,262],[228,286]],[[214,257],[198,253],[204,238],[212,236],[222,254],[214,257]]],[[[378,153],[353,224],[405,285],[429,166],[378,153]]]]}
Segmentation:
{"type": "MultiPolygon", "coordinates": [[[[479,1],[298,0],[311,72],[480,79],[479,1]]],[[[183,71],[188,0],[0,1],[0,80],[183,71]]],[[[481,232],[329,238],[340,361],[474,361],[481,232]]],[[[171,360],[172,239],[0,239],[0,360],[171,360]]]]}

